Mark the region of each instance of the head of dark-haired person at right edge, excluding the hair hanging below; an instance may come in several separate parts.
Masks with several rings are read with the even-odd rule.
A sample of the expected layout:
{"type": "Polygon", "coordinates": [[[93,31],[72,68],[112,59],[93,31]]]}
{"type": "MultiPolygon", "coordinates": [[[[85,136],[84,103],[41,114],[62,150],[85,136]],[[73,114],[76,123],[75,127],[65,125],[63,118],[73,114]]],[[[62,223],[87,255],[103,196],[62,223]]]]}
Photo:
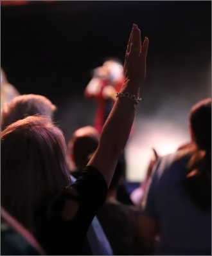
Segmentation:
{"type": "Polygon", "coordinates": [[[190,111],[190,128],[199,149],[211,151],[211,98],[201,100],[190,111]]]}

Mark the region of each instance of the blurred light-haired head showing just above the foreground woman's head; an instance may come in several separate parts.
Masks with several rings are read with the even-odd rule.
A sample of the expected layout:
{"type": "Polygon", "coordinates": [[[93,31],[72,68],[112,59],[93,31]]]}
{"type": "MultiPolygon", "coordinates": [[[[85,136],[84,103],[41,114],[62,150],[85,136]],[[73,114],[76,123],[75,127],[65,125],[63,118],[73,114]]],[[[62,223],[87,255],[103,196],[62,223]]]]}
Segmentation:
{"type": "Polygon", "coordinates": [[[1,129],[5,129],[6,126],[26,116],[35,114],[52,118],[56,109],[57,107],[45,96],[33,94],[16,96],[11,102],[3,105],[1,110],[1,129]]]}

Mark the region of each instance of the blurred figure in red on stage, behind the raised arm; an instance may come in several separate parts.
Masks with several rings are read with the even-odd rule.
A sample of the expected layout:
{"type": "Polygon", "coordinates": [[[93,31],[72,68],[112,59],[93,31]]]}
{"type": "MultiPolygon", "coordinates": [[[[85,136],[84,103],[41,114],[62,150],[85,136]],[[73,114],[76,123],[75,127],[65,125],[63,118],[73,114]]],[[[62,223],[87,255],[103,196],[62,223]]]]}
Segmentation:
{"type": "Polygon", "coordinates": [[[103,66],[95,68],[93,78],[85,88],[85,97],[98,100],[98,109],[94,119],[94,127],[99,133],[116,100],[125,77],[123,66],[114,59],[109,59],[103,66]]]}

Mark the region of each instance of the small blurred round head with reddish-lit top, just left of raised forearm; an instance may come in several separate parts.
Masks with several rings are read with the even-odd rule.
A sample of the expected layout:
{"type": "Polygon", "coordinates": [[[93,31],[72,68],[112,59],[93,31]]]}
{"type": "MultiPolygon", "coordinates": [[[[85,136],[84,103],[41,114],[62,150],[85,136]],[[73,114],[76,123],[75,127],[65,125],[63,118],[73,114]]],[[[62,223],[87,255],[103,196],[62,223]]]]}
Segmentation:
{"type": "Polygon", "coordinates": [[[98,147],[99,133],[92,126],[85,126],[75,131],[68,144],[69,158],[75,167],[83,168],[98,147]]]}

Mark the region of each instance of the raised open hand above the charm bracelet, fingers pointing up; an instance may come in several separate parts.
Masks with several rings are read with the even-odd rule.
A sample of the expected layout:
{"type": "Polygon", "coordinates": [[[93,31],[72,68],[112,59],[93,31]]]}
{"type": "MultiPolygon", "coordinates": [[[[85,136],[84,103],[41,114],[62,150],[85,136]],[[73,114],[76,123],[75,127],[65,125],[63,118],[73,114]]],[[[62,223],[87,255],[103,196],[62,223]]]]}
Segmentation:
{"type": "Polygon", "coordinates": [[[141,31],[133,24],[130,39],[125,55],[124,74],[125,79],[141,85],[146,76],[146,55],[148,50],[148,38],[145,37],[141,44],[141,31]]]}

